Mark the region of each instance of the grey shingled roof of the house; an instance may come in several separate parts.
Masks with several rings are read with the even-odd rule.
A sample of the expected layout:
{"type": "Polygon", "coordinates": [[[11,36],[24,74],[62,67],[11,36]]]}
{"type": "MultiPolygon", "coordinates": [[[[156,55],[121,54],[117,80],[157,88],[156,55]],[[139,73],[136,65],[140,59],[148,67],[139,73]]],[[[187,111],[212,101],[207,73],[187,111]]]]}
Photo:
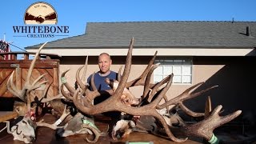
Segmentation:
{"type": "Polygon", "coordinates": [[[256,47],[256,22],[88,22],[86,34],[49,42],[46,47],[122,47],[129,46],[132,37],[134,47],[256,47]],[[251,37],[246,36],[246,26],[251,37]]]}

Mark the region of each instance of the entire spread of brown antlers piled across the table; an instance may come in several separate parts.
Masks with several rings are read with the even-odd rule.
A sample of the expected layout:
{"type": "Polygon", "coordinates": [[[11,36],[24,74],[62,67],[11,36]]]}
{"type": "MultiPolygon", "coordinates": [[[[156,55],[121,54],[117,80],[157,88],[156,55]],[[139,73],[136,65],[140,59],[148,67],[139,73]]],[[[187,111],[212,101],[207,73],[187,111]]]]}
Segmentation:
{"type": "MultiPolygon", "coordinates": [[[[45,45],[45,44],[44,44],[45,45]]],[[[40,49],[38,50],[37,55],[34,57],[33,62],[31,63],[26,83],[23,86],[22,90],[18,90],[17,88],[14,88],[13,84],[13,74],[10,76],[10,81],[8,81],[8,90],[14,95],[16,95],[18,98],[21,98],[24,102],[28,102],[28,107],[30,106],[30,102],[33,101],[30,98],[30,91],[38,88],[42,84],[46,83],[38,82],[39,79],[41,79],[44,75],[42,75],[40,78],[35,80],[32,84],[30,84],[30,75],[31,71],[34,67],[34,62],[36,57],[38,56],[40,50],[42,50],[42,45],[40,49]]],[[[76,81],[78,83],[78,89],[74,89],[73,86],[71,86],[68,82],[62,82],[61,85],[61,93],[62,95],[70,100],[71,102],[74,102],[74,106],[78,110],[80,110],[83,114],[88,115],[95,115],[95,114],[102,114],[104,112],[108,111],[120,111],[124,112],[126,114],[136,115],[136,116],[153,116],[155,119],[158,120],[158,122],[161,122],[163,129],[166,131],[166,134],[168,137],[173,140],[174,142],[185,142],[187,137],[195,136],[200,138],[205,138],[206,140],[210,140],[213,136],[213,131],[218,126],[222,126],[223,124],[230,122],[234,118],[238,117],[239,114],[242,113],[241,110],[237,110],[232,114],[228,114],[226,116],[220,116],[222,106],[217,106],[214,110],[206,110],[206,113],[196,113],[192,110],[189,110],[183,102],[187,99],[197,97],[198,95],[213,89],[216,86],[212,86],[210,88],[207,88],[206,90],[201,90],[197,93],[191,93],[194,88],[201,86],[203,82],[200,82],[194,86],[191,86],[189,89],[185,90],[182,94],[178,95],[175,98],[167,99],[166,92],[169,90],[171,84],[172,84],[172,78],[174,74],[170,74],[166,78],[162,79],[161,82],[158,83],[150,83],[150,78],[153,74],[153,71],[158,67],[158,64],[154,64],[154,59],[156,58],[156,54],[154,54],[154,57],[150,60],[148,66],[142,73],[142,75],[130,82],[127,82],[129,74],[130,74],[130,68],[131,68],[131,62],[132,62],[132,50],[134,46],[134,38],[131,39],[130,47],[128,50],[128,54],[126,57],[126,66],[123,70],[123,73],[121,73],[121,69],[118,72],[118,81],[110,82],[109,80],[106,80],[106,82],[109,82],[111,87],[113,87],[113,90],[109,90],[110,98],[107,98],[105,101],[100,102],[96,105],[93,104],[94,98],[101,96],[101,94],[98,92],[98,90],[94,86],[94,76],[91,79],[93,90],[88,89],[88,84],[86,82],[82,82],[82,78],[79,77],[80,71],[82,68],[85,69],[87,67],[87,59],[86,58],[86,64],[85,66],[80,67],[77,70],[76,74],[76,81]],[[165,85],[165,86],[163,86],[165,85]],[[68,90],[68,92],[64,91],[64,86],[68,90]],[[144,86],[143,94],[140,98],[135,99],[134,101],[134,95],[130,93],[129,89],[132,86],[144,86]],[[124,101],[124,97],[126,96],[126,100],[124,101]],[[160,104],[162,99],[165,99],[165,102],[160,104]],[[137,101],[136,101],[137,100],[137,101]],[[134,101],[133,105],[129,105],[127,103],[131,103],[131,101],[134,101]],[[140,105],[139,103],[147,102],[144,105],[140,105]],[[177,128],[179,131],[179,134],[182,134],[182,138],[176,138],[174,134],[172,133],[172,129],[170,126],[167,125],[165,119],[163,118],[162,114],[158,113],[158,110],[162,110],[163,108],[166,108],[167,106],[174,106],[179,107],[181,110],[183,110],[186,114],[192,116],[192,117],[203,117],[204,119],[202,121],[196,122],[194,124],[187,124],[186,126],[182,126],[177,128]]],[[[62,78],[65,78],[65,74],[68,70],[66,70],[64,73],[62,73],[62,78]]],[[[84,77],[85,74],[83,74],[82,77],[84,77]]],[[[208,106],[209,108],[209,106],[208,106]]],[[[29,110],[29,109],[28,109],[29,110]]]]}

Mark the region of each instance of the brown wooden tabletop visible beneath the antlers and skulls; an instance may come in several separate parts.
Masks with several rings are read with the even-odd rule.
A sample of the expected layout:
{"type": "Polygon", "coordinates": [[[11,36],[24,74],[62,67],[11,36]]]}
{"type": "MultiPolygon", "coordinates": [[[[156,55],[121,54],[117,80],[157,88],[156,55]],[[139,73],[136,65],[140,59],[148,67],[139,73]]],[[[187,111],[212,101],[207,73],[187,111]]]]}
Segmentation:
{"type": "MultiPolygon", "coordinates": [[[[57,118],[54,118],[50,114],[46,114],[44,117],[44,122],[48,123],[54,123],[57,118]]],[[[110,119],[108,118],[102,118],[98,117],[95,118],[95,125],[98,126],[98,129],[101,131],[106,131],[108,124],[110,122],[110,119]]],[[[159,138],[158,136],[154,136],[152,134],[146,134],[146,133],[132,133],[127,138],[123,138],[122,140],[114,141],[110,137],[110,131],[107,135],[101,136],[98,139],[97,144],[126,144],[126,142],[154,142],[154,144],[173,144],[178,142],[172,142],[170,138],[159,138]]],[[[3,132],[2,132],[3,133],[3,132]]],[[[14,141],[12,134],[0,134],[0,143],[20,143],[23,144],[24,142],[20,141],[14,141]]],[[[46,144],[46,143],[68,143],[68,144],[78,144],[78,143],[88,143],[86,142],[86,138],[92,139],[93,136],[90,134],[76,134],[73,136],[69,136],[66,138],[56,138],[55,137],[55,130],[51,130],[47,127],[38,127],[36,130],[36,141],[34,143],[36,144],[46,144]]],[[[186,142],[183,142],[185,144],[198,144],[202,142],[195,142],[192,140],[187,140],[186,142]]],[[[183,144],[182,143],[182,144],[183,144]]]]}

